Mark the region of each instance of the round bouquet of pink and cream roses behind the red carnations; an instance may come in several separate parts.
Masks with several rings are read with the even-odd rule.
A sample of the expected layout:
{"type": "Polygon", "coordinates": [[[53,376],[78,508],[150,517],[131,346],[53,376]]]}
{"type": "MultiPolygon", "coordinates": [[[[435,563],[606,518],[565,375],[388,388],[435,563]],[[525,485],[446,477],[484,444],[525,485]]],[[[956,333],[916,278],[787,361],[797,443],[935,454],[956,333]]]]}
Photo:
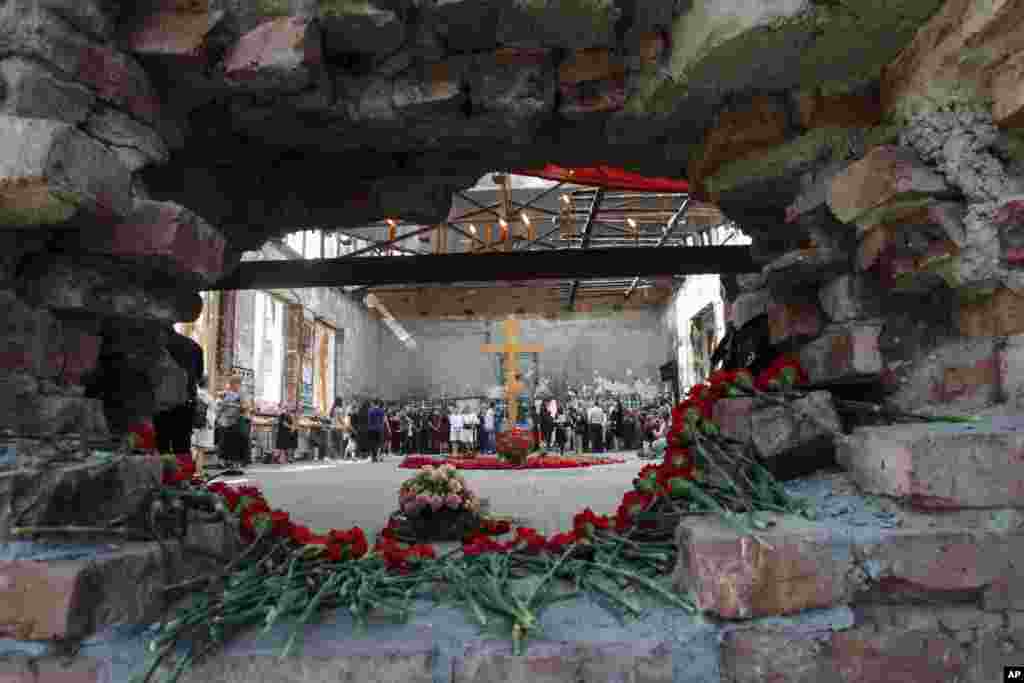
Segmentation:
{"type": "Polygon", "coordinates": [[[480,499],[452,465],[424,465],[398,489],[398,511],[416,539],[456,541],[479,526],[480,499]]]}

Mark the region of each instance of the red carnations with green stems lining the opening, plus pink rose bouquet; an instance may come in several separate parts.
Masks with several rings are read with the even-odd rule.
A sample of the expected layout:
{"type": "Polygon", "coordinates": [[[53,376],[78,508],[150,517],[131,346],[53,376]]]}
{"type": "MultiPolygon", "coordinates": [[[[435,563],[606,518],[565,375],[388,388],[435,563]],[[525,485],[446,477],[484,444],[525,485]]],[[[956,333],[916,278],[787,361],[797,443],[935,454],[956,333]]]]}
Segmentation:
{"type": "MultiPolygon", "coordinates": [[[[686,514],[713,513],[754,533],[764,525],[760,511],[802,511],[744,449],[722,437],[712,421],[715,402],[785,390],[804,379],[793,358],[777,360],[757,378],[745,371],[715,373],[675,407],[664,461],[639,471],[614,515],[587,508],[573,517],[571,529],[549,536],[480,518],[461,545],[445,553],[403,540],[395,517],[372,546],[359,527],[316,532],[272,509],[254,487],[204,487],[184,467],[168,477],[168,486],[214,497],[249,545],[221,574],[200,584],[175,620],[162,625],[142,680],[181,639],[190,645],[174,669],[178,675],[232,631],[260,624],[267,631],[283,620],[292,623],[283,648],[287,656],[301,645],[303,626],[322,609],[346,609],[356,628],[366,628],[371,613],[408,620],[414,600],[443,596],[463,605],[481,629],[504,629],[516,652],[539,634],[544,609],[581,592],[626,615],[642,611],[644,595],[692,610],[687,598],[662,583],[675,564],[672,524],[686,514]],[[650,532],[666,519],[667,538],[650,532]]],[[[450,464],[425,463],[401,485],[397,502],[411,518],[477,514],[480,508],[450,464]]]]}

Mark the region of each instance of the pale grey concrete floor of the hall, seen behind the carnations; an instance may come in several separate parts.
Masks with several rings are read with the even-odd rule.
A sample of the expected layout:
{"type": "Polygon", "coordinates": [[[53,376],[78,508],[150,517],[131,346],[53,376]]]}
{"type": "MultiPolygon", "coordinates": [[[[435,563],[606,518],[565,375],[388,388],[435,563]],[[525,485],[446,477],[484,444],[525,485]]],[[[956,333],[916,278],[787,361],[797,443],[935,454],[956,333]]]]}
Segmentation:
{"type": "MultiPolygon", "coordinates": [[[[572,515],[590,506],[612,514],[623,494],[643,466],[635,453],[601,454],[623,458],[618,465],[569,470],[463,471],[476,494],[489,500],[490,512],[509,515],[542,533],[566,530],[572,515]]],[[[258,485],[273,508],[314,530],[358,525],[372,539],[398,506],[398,487],[415,474],[398,468],[401,459],[384,462],[341,462],[253,466],[245,477],[228,482],[258,485]]]]}

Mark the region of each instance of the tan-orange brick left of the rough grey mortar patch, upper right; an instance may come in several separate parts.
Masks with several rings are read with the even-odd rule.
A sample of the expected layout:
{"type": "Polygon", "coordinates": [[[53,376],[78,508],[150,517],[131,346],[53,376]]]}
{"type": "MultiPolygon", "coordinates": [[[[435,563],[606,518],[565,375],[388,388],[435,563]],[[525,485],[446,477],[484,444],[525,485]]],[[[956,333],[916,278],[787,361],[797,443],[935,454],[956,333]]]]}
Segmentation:
{"type": "Polygon", "coordinates": [[[828,208],[844,223],[871,210],[921,195],[948,190],[945,181],[906,148],[879,146],[831,181],[828,208]]]}

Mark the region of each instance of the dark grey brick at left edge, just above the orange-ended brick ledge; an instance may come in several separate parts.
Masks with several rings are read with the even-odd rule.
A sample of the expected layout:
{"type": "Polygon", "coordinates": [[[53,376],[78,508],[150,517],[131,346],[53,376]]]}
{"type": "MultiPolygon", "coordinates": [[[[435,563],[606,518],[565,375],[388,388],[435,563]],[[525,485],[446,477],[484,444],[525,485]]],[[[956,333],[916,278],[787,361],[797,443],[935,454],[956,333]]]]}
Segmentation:
{"type": "MultiPolygon", "coordinates": [[[[26,446],[18,443],[19,450],[26,446]]],[[[29,455],[17,457],[24,462],[29,455]]],[[[0,538],[15,523],[94,524],[133,514],[161,472],[159,458],[139,457],[113,466],[49,463],[44,469],[0,471],[0,538]]]]}

